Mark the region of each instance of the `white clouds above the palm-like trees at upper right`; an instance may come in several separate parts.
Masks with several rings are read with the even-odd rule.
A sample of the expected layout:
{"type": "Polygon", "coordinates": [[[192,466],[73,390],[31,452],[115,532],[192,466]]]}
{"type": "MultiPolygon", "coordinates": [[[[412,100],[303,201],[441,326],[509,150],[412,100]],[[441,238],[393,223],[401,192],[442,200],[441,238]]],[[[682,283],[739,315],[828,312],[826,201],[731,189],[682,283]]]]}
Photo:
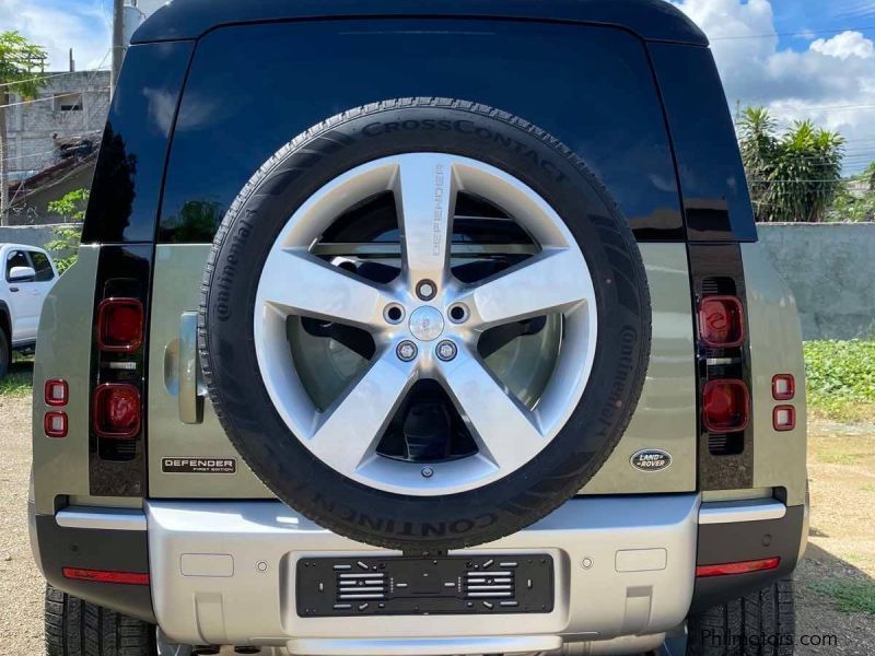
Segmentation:
{"type": "MultiPolygon", "coordinates": [[[[845,172],[875,160],[875,45],[860,32],[779,49],[768,0],[676,0],[711,39],[735,109],[763,105],[783,126],[810,118],[848,140],[845,172]],[[756,37],[756,38],[738,38],[756,37]]],[[[854,3],[856,11],[875,0],[854,3]]],[[[845,8],[850,10],[850,7],[845,8]]],[[[794,44],[797,42],[794,42],[794,44]]]]}

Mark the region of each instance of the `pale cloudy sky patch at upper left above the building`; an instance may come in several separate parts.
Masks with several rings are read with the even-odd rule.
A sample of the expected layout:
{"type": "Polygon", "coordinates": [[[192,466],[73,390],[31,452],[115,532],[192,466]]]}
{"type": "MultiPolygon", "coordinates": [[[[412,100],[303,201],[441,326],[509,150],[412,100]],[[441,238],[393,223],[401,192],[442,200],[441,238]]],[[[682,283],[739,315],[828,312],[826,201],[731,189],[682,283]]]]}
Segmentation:
{"type": "Polygon", "coordinates": [[[67,70],[69,48],[79,70],[106,67],[110,36],[102,7],[100,0],[0,0],[0,25],[44,46],[50,70],[67,70]]]}

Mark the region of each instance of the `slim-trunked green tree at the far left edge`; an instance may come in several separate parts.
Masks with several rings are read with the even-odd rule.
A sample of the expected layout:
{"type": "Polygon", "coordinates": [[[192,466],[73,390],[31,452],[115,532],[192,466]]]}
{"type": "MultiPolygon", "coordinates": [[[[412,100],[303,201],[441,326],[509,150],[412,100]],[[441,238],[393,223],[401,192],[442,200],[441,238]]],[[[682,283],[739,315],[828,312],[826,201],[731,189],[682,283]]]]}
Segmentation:
{"type": "Polygon", "coordinates": [[[7,155],[7,106],[11,94],[36,97],[45,83],[47,54],[13,31],[0,33],[0,225],[9,218],[9,157],[7,155]]]}

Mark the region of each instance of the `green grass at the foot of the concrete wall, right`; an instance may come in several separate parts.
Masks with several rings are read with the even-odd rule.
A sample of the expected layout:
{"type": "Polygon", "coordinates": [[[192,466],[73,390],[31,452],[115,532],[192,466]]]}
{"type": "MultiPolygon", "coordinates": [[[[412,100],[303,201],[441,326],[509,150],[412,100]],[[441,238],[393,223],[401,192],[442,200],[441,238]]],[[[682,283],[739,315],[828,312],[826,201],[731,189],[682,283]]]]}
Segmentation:
{"type": "Polygon", "coordinates": [[[808,406],[815,415],[847,423],[875,421],[875,341],[809,341],[804,351],[808,406]]]}

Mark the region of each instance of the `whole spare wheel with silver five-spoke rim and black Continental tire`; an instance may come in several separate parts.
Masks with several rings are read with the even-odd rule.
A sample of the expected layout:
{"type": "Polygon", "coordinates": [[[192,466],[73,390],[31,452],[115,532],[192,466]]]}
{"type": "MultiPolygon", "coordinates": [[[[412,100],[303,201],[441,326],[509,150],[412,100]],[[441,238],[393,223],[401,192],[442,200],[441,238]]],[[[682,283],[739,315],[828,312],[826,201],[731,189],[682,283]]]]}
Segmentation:
{"type": "Polygon", "coordinates": [[[200,350],[228,436],[354,540],[495,540],[573,496],[634,411],[641,254],[565,145],[504,112],[406,98],[281,148],[225,215],[200,350]]]}

